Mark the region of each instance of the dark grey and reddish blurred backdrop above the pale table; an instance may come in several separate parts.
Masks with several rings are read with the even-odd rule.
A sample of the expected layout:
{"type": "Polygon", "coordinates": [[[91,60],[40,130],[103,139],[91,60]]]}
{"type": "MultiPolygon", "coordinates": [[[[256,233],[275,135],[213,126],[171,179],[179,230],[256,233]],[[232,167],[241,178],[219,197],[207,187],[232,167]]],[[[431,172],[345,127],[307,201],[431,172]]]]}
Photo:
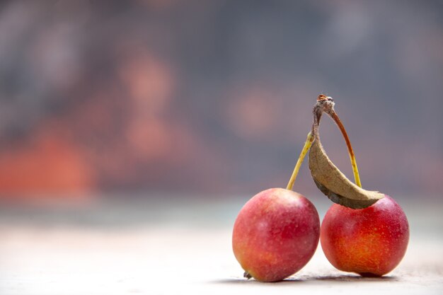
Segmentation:
{"type": "Polygon", "coordinates": [[[2,1],[0,195],[282,187],[319,93],[365,188],[441,195],[442,1],[2,1]]]}

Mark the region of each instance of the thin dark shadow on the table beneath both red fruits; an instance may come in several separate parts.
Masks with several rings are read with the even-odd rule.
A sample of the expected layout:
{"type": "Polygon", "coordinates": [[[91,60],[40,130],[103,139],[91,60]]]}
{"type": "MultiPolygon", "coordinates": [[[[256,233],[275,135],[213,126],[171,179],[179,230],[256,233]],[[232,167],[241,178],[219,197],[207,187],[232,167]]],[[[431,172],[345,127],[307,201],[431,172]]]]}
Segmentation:
{"type": "Polygon", "coordinates": [[[211,283],[215,284],[294,284],[303,282],[396,282],[397,277],[394,276],[384,276],[384,277],[360,277],[355,274],[340,274],[340,275],[328,275],[328,276],[317,276],[317,277],[289,277],[280,282],[258,282],[255,279],[243,279],[243,278],[227,278],[227,279],[217,279],[211,283]]]}

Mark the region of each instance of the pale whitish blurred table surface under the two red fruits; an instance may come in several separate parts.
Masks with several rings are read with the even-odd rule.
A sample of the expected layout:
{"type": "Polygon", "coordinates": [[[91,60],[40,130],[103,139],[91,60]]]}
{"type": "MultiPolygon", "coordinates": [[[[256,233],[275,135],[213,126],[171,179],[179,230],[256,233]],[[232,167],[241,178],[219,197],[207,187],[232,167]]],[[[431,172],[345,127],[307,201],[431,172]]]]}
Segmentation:
{"type": "Polygon", "coordinates": [[[231,250],[241,202],[3,207],[0,294],[443,294],[441,204],[403,206],[408,252],[385,277],[335,270],[318,247],[289,279],[260,283],[231,250]]]}

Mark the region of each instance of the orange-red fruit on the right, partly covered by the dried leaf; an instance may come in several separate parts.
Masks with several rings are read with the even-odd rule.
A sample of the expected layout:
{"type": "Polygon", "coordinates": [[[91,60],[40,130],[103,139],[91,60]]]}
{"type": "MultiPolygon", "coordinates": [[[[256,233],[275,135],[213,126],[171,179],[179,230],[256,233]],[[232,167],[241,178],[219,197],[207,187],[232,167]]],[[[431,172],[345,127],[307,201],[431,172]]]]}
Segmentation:
{"type": "Polygon", "coordinates": [[[338,270],[362,276],[391,272],[405,255],[409,225],[389,196],[365,209],[333,204],[321,224],[321,248],[338,270]]]}

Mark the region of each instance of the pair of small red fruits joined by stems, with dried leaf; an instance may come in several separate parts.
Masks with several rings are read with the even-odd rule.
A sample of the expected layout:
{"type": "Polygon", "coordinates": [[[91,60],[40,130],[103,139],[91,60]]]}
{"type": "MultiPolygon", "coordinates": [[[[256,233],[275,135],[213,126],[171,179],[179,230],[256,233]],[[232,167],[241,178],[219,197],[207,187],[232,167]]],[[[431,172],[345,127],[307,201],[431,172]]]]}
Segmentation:
{"type": "Polygon", "coordinates": [[[237,216],[232,245],[248,279],[276,282],[289,277],[311,260],[319,240],[334,267],[364,277],[391,272],[405,255],[408,219],[388,195],[362,189],[354,152],[334,105],[332,98],[318,96],[311,132],[287,188],[259,192],[237,216]],[[318,126],[323,112],[345,138],[355,183],[338,170],[321,145],[318,126]],[[321,226],[309,199],[292,190],[308,151],[314,183],[336,203],[326,212],[321,226]]]}

